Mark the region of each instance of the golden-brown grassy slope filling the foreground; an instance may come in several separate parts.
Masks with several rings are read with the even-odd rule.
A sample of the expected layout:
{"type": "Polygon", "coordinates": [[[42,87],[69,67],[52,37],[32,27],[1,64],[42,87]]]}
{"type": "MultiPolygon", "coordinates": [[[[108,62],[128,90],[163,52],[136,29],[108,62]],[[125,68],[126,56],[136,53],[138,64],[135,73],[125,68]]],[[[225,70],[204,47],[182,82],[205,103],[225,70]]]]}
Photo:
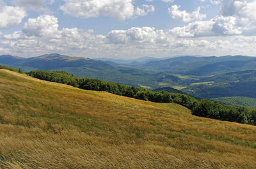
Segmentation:
{"type": "Polygon", "coordinates": [[[0,70],[0,168],[256,168],[256,126],[0,70]]]}

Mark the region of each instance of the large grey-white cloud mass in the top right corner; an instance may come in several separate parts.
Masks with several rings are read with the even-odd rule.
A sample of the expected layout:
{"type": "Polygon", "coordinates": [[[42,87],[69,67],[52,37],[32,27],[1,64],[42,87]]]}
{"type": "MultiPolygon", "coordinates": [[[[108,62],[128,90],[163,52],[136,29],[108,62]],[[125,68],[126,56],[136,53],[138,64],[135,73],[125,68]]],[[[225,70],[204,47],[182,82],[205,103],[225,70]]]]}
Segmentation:
{"type": "MultiPolygon", "coordinates": [[[[179,37],[234,36],[248,33],[256,29],[255,8],[256,1],[253,0],[223,0],[221,11],[216,17],[174,27],[170,33],[179,37]]],[[[172,11],[177,11],[177,6],[172,11]]],[[[179,16],[186,15],[177,15],[179,16]]],[[[186,19],[180,17],[180,20],[186,19]]]]}

